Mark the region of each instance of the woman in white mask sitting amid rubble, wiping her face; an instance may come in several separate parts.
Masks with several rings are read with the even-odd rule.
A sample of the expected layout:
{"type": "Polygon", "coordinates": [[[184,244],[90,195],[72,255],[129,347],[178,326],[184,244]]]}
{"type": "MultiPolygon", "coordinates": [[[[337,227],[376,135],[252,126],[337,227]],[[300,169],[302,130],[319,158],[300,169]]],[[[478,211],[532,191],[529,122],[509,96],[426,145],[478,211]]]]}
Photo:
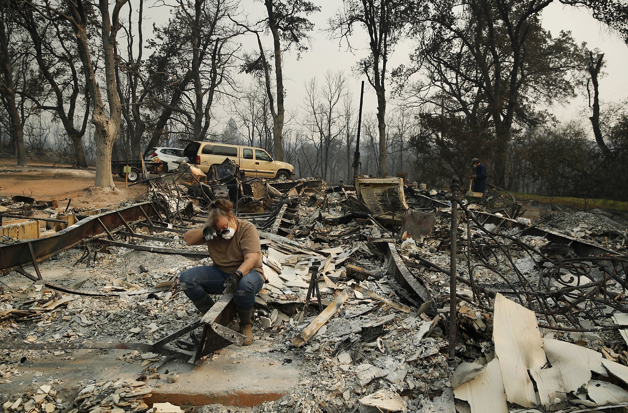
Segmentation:
{"type": "Polygon", "coordinates": [[[199,266],[181,272],[179,282],[185,295],[200,313],[214,305],[209,294],[234,294],[240,316],[244,345],[253,342],[251,315],[255,295],[264,284],[262,253],[257,228],[231,212],[233,204],[219,199],[210,205],[207,224],[189,230],[183,240],[189,245],[207,244],[213,266],[199,266]]]}

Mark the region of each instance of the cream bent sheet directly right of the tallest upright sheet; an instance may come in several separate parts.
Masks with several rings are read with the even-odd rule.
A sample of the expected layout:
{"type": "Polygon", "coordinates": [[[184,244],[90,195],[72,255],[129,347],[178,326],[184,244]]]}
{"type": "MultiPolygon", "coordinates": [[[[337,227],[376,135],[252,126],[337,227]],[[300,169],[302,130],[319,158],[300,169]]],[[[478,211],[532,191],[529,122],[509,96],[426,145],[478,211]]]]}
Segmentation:
{"type": "Polygon", "coordinates": [[[566,392],[578,390],[591,380],[591,372],[607,375],[602,366],[602,354],[566,341],[543,339],[543,347],[553,367],[560,368],[566,392]]]}

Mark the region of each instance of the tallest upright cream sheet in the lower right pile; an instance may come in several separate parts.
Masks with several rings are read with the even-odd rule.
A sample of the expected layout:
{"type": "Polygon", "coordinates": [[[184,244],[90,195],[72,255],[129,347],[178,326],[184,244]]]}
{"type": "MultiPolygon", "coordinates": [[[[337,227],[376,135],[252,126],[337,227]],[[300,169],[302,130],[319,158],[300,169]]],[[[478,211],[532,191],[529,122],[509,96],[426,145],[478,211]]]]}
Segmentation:
{"type": "Polygon", "coordinates": [[[528,370],[538,370],[546,363],[536,315],[499,293],[494,305],[493,341],[507,400],[534,407],[536,396],[528,370]]]}

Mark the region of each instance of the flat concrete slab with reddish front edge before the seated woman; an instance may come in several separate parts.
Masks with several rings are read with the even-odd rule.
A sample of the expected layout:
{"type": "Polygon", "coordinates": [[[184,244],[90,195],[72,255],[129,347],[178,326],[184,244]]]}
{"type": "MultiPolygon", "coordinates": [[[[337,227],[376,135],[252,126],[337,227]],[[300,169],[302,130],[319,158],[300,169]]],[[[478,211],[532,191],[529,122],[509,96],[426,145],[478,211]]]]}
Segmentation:
{"type": "Polygon", "coordinates": [[[251,346],[224,348],[200,367],[170,362],[160,369],[162,379],[149,380],[153,396],[144,401],[148,405],[170,402],[251,407],[277,400],[296,387],[301,370],[293,353],[268,350],[268,342],[256,340],[251,346]],[[168,384],[166,370],[179,375],[176,383],[168,384]]]}

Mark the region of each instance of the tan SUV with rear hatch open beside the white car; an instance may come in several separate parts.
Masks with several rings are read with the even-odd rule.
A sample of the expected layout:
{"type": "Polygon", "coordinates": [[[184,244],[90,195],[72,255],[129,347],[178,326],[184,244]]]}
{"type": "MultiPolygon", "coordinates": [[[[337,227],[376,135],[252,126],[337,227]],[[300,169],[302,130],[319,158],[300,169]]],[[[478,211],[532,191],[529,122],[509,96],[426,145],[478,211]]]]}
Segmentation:
{"type": "Polygon", "coordinates": [[[240,166],[246,176],[287,180],[295,174],[293,165],[273,161],[268,152],[259,147],[193,141],[185,147],[183,156],[187,156],[190,163],[198,166],[204,173],[213,164],[221,164],[229,158],[240,166]]]}

